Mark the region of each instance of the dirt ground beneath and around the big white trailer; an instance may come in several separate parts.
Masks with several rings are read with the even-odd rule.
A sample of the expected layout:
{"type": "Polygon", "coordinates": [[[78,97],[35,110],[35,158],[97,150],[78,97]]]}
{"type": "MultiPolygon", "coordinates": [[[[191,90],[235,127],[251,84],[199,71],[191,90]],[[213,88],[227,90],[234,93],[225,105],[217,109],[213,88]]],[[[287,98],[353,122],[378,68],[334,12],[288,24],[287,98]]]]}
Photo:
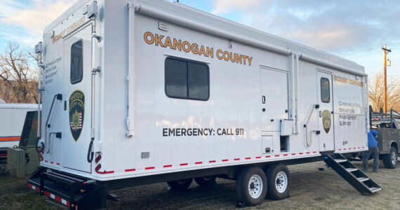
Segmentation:
{"type": "MultiPolygon", "coordinates": [[[[354,162],[362,167],[361,162],[354,162]]],[[[370,161],[372,168],[372,161],[370,161]]],[[[378,173],[366,172],[383,190],[364,196],[350,186],[324,162],[289,166],[291,197],[266,199],[258,207],[246,209],[400,209],[400,167],[378,173]],[[324,171],[319,171],[324,167],[324,171]]],[[[370,169],[371,171],[371,169],[370,169]]],[[[112,190],[119,202],[107,202],[107,209],[236,209],[234,181],[218,179],[217,185],[201,188],[192,183],[185,192],[168,191],[166,183],[112,190]]],[[[27,188],[26,179],[0,176],[0,209],[60,209],[46,197],[27,188]]]]}

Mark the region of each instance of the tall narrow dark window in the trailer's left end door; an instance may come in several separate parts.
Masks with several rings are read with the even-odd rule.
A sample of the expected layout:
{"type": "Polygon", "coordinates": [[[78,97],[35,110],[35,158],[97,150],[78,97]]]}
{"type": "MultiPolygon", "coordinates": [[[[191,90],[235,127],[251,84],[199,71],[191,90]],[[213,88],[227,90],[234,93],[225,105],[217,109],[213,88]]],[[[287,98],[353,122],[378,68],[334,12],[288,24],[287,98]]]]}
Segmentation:
{"type": "Polygon", "coordinates": [[[82,41],[71,46],[71,83],[79,83],[84,77],[82,41]]]}

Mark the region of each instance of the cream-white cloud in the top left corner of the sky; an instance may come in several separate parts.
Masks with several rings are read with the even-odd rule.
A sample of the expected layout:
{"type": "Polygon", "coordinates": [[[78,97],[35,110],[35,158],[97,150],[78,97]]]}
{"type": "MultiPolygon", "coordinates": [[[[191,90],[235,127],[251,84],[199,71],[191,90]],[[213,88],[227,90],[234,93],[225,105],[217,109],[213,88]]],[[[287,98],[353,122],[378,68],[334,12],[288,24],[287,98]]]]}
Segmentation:
{"type": "Polygon", "coordinates": [[[11,0],[0,3],[0,22],[19,26],[33,34],[42,34],[44,27],[58,18],[76,0],[34,0],[32,5],[22,5],[11,0]]]}

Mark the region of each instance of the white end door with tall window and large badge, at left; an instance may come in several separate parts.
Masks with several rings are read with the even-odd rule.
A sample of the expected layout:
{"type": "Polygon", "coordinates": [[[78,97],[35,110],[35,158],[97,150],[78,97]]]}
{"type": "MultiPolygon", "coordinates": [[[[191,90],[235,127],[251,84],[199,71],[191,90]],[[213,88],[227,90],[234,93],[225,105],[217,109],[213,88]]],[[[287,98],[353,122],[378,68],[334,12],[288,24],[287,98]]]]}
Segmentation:
{"type": "Polygon", "coordinates": [[[62,167],[90,173],[91,25],[65,38],[64,57],[62,167]]]}

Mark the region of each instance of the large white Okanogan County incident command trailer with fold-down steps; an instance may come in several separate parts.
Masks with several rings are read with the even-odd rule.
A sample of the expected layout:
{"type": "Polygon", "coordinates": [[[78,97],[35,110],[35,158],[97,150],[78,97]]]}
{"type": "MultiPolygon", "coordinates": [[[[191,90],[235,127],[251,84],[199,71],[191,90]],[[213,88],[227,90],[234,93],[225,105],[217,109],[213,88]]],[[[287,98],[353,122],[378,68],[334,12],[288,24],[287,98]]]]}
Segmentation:
{"type": "Polygon", "coordinates": [[[28,185],[72,209],[106,207],[113,188],[215,176],[260,204],[288,197],[285,165],[316,160],[361,193],[381,189],[340,155],[367,149],[354,62],[156,0],[78,1],[36,52],[44,169],[28,185]]]}

